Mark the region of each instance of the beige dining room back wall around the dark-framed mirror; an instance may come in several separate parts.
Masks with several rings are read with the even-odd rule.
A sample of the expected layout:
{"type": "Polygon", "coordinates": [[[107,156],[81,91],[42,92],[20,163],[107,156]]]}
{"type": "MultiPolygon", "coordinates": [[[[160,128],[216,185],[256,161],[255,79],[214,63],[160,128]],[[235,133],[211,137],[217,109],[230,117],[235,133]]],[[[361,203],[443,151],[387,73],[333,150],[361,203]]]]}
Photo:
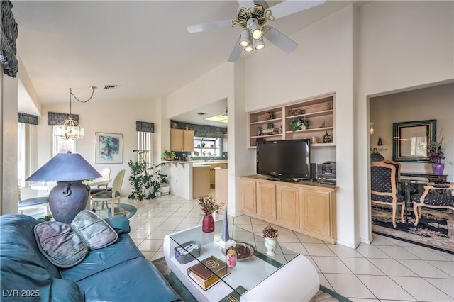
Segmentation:
{"type": "MultiPolygon", "coordinates": [[[[448,181],[454,181],[454,84],[444,84],[424,89],[415,89],[378,96],[370,99],[370,121],[374,122],[375,133],[370,135],[371,147],[382,147],[380,152],[385,160],[392,160],[392,123],[406,121],[437,121],[437,140],[443,138],[445,147],[445,169],[448,181]],[[377,146],[378,138],[383,145],[377,146]]],[[[402,172],[433,173],[432,164],[421,162],[401,162],[402,172]]]]}

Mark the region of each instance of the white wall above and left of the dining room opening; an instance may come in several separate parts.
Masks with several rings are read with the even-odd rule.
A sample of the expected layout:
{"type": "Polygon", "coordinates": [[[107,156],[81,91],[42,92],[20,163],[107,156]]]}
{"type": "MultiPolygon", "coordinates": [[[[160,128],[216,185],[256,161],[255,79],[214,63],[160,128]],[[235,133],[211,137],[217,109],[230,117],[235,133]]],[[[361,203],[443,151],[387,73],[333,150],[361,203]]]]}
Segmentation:
{"type": "Polygon", "coordinates": [[[371,239],[368,96],[454,79],[453,1],[372,1],[358,14],[355,187],[360,238],[371,239]]]}

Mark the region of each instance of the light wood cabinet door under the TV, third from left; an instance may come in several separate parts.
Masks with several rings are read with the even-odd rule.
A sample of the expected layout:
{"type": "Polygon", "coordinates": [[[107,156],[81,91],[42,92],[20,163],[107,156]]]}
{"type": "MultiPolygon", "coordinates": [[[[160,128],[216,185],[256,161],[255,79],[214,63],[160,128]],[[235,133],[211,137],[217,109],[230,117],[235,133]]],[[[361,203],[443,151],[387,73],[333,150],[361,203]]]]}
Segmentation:
{"type": "Polygon", "coordinates": [[[277,221],[299,227],[299,189],[276,186],[277,221]]]}

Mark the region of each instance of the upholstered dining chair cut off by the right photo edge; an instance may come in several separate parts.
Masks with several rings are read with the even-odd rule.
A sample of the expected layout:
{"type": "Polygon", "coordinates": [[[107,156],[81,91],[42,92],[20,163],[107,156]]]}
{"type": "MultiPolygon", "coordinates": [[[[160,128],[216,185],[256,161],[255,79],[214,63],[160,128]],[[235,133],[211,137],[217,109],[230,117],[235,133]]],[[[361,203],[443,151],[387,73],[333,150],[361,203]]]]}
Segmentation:
{"type": "Polygon", "coordinates": [[[454,182],[445,185],[427,184],[424,186],[424,191],[419,194],[411,196],[413,201],[414,211],[414,225],[418,225],[419,218],[422,216],[422,208],[426,206],[428,208],[448,208],[454,210],[454,196],[449,194],[440,193],[438,190],[451,190],[454,191],[454,182]],[[436,190],[434,190],[436,189],[436,190]]]}

